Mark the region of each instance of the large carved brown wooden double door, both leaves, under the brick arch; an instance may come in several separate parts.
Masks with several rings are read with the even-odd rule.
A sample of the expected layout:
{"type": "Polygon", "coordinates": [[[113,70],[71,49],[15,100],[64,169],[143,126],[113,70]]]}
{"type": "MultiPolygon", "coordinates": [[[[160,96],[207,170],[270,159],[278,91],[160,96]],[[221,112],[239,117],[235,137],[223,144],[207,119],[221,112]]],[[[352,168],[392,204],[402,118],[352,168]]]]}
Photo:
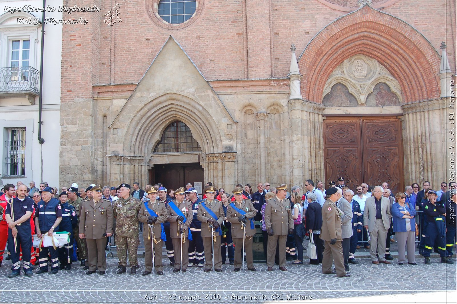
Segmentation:
{"type": "Polygon", "coordinates": [[[324,120],[325,181],[345,178],[354,186],[387,181],[404,190],[403,140],[397,117],[327,117],[324,120]]]}

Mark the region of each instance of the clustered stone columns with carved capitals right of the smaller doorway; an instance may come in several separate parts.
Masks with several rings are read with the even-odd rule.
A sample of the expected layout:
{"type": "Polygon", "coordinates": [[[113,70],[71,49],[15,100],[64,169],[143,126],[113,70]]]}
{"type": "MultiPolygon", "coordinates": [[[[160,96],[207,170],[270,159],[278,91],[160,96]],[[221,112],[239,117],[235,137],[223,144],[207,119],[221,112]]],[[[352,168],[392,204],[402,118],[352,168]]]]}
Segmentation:
{"type": "MultiPolygon", "coordinates": [[[[235,187],[236,152],[207,153],[205,162],[205,180],[213,181],[216,187],[235,187]]],[[[226,189],[232,191],[231,189],[226,189]]]]}

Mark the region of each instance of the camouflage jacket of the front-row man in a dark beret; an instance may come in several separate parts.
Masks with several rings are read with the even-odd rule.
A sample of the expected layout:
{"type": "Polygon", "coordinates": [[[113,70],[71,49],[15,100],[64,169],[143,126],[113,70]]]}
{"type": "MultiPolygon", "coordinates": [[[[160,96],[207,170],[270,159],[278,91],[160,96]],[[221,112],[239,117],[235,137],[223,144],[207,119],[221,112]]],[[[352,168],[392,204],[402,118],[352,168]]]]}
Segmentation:
{"type": "Polygon", "coordinates": [[[138,213],[140,208],[141,201],[133,196],[130,196],[125,202],[123,198],[113,202],[116,235],[133,236],[139,234],[138,213]]]}

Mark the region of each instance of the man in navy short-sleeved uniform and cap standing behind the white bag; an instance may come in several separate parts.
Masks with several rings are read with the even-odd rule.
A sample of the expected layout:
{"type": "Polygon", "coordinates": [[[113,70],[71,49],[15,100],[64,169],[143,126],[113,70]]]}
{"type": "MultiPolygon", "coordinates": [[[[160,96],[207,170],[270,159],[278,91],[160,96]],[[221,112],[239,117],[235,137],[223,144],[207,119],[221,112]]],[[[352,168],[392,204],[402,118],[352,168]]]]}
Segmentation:
{"type": "MultiPolygon", "coordinates": [[[[53,197],[53,191],[50,187],[45,187],[39,191],[41,201],[38,203],[35,211],[35,229],[37,236],[41,239],[44,233],[52,236],[53,232],[59,231],[59,224],[62,221],[62,206],[60,202],[53,197]]],[[[48,251],[51,255],[51,271],[49,274],[58,272],[58,252],[53,246],[40,248],[38,262],[40,269],[37,273],[48,272],[48,251]]]]}

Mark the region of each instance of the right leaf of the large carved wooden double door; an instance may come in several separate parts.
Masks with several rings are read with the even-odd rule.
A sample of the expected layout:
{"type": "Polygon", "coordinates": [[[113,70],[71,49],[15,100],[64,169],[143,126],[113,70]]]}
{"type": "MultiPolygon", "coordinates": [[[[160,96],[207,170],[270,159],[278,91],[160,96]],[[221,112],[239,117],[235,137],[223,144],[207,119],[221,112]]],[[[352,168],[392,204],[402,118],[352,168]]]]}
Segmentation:
{"type": "Polygon", "coordinates": [[[370,185],[388,181],[393,193],[403,191],[403,141],[398,118],[363,117],[364,173],[370,185]]]}

